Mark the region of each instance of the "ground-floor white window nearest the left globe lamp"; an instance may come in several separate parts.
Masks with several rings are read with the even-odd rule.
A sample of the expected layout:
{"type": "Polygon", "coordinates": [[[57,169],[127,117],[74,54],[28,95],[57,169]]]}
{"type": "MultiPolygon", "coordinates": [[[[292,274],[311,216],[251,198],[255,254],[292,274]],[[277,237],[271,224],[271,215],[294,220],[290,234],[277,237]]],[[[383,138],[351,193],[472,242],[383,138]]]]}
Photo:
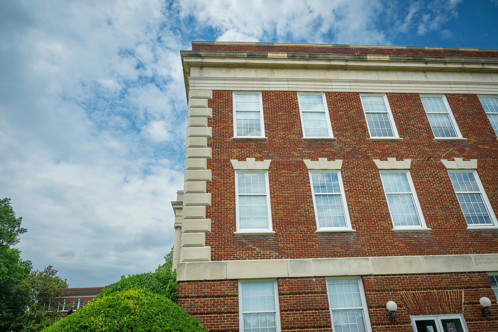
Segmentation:
{"type": "Polygon", "coordinates": [[[370,332],[361,278],[326,278],[334,332],[370,332]]]}

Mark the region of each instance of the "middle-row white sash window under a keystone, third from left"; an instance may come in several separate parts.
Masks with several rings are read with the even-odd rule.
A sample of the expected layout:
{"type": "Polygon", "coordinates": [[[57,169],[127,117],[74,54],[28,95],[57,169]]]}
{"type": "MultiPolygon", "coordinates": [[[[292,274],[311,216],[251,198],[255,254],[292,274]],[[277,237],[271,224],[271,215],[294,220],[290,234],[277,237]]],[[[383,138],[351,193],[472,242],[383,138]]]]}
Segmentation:
{"type": "Polygon", "coordinates": [[[410,172],[380,171],[380,178],[394,229],[426,228],[410,172]]]}

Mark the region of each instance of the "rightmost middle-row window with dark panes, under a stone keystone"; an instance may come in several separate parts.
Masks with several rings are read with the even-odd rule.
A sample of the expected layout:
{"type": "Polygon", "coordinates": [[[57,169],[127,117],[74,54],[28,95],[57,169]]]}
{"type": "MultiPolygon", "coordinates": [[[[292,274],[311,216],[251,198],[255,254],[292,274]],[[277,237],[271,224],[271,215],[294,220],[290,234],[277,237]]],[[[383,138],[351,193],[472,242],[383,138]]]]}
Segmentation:
{"type": "Polygon", "coordinates": [[[477,171],[449,170],[448,173],[469,228],[496,226],[497,219],[477,171]]]}

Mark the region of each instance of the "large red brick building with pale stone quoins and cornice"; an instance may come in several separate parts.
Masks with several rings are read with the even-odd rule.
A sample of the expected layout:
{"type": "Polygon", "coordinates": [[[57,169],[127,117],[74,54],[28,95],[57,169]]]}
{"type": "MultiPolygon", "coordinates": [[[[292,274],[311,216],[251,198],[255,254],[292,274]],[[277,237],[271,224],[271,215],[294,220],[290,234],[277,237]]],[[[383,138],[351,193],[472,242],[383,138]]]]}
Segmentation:
{"type": "Polygon", "coordinates": [[[192,42],[177,303],[210,331],[498,331],[497,55],[192,42]]]}

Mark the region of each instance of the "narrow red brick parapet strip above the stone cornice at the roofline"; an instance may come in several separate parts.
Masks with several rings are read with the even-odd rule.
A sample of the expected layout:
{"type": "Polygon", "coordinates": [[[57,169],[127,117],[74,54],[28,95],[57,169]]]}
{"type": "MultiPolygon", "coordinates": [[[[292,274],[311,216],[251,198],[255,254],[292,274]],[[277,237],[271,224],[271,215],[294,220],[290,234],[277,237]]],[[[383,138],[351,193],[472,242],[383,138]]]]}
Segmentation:
{"type": "Polygon", "coordinates": [[[276,52],[276,53],[323,53],[323,54],[382,54],[400,56],[435,56],[435,57],[476,57],[496,58],[498,52],[464,51],[459,49],[430,50],[421,47],[413,48],[367,48],[367,47],[317,47],[317,46],[286,46],[286,45],[214,45],[192,44],[192,51],[218,52],[276,52]]]}

